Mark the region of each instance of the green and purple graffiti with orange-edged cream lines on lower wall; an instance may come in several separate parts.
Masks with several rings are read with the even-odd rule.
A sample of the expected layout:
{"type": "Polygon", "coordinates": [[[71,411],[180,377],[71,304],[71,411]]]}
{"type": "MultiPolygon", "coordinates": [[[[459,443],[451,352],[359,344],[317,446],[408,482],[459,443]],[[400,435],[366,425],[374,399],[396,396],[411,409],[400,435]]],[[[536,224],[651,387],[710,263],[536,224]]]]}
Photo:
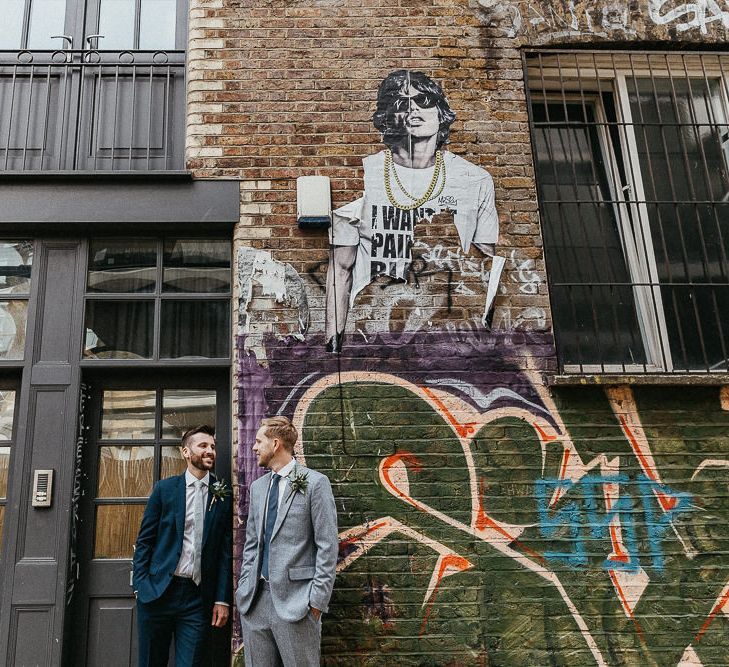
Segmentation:
{"type": "Polygon", "coordinates": [[[333,483],[331,664],[721,663],[718,390],[552,396],[524,370],[551,353],[538,334],[383,335],[339,359],[322,342],[270,338],[267,368],[247,357],[240,382],[245,406],[294,420],[297,456],[333,483]]]}

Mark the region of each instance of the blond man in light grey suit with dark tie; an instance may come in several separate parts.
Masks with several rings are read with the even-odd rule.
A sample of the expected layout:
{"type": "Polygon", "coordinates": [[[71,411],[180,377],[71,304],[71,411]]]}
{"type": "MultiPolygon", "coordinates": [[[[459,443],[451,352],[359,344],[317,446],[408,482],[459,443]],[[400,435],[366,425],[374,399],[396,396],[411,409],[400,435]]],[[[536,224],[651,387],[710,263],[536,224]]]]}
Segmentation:
{"type": "Polygon", "coordinates": [[[261,421],[253,451],[271,473],[251,485],[235,602],[248,667],[319,665],[321,614],[334,587],[337,510],[326,476],[298,464],[296,428],[261,421]]]}

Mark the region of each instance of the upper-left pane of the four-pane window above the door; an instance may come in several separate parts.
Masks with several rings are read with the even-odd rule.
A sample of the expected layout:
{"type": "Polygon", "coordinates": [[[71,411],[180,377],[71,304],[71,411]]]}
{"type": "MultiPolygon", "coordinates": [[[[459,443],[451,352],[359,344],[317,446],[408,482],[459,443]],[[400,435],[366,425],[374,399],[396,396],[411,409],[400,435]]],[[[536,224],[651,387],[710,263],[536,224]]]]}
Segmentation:
{"type": "Polygon", "coordinates": [[[89,249],[89,292],[154,292],[157,243],[98,240],[89,249]]]}

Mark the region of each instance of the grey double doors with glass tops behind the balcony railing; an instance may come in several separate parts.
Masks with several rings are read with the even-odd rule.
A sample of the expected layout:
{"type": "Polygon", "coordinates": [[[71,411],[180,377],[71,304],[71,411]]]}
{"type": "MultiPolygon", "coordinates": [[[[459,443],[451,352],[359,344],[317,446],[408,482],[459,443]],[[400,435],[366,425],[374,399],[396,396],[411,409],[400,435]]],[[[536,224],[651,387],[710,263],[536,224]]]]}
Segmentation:
{"type": "Polygon", "coordinates": [[[185,0],[8,0],[0,170],[181,169],[185,0]]]}

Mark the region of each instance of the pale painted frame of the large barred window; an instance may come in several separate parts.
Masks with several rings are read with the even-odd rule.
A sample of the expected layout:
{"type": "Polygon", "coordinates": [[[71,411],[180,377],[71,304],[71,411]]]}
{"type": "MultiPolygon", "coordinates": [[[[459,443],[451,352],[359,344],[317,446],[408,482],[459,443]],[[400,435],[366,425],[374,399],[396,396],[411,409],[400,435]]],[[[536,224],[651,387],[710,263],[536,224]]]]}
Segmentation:
{"type": "MultiPolygon", "coordinates": [[[[630,90],[628,79],[634,80],[655,80],[655,79],[680,79],[688,82],[689,92],[693,94],[691,82],[694,79],[703,79],[707,85],[710,81],[718,81],[719,100],[723,118],[715,118],[715,109],[708,105],[711,118],[712,133],[720,141],[725,165],[729,171],[729,67],[722,66],[721,52],[711,53],[671,53],[671,52],[648,52],[629,51],[625,53],[614,53],[605,51],[575,51],[575,50],[540,50],[528,49],[523,52],[523,65],[526,80],[527,107],[529,112],[529,125],[531,132],[532,152],[535,165],[535,175],[538,178],[537,164],[538,157],[535,141],[535,121],[532,116],[534,104],[549,103],[581,103],[592,104],[595,112],[595,129],[599,138],[600,157],[605,163],[605,174],[608,185],[615,196],[613,208],[618,223],[618,231],[623,251],[623,257],[632,282],[632,289],[635,298],[635,315],[639,326],[640,339],[644,346],[646,355],[645,363],[631,364],[627,360],[622,363],[566,363],[558,359],[562,372],[568,375],[599,375],[599,374],[675,374],[671,351],[668,325],[666,321],[666,309],[663,304],[662,286],[670,285],[661,282],[656,261],[653,233],[651,231],[651,219],[648,211],[648,199],[644,183],[645,169],[640,164],[638,141],[636,137],[637,126],[630,108],[630,90]],[[563,55],[569,64],[560,65],[559,56],[563,55]],[[665,57],[662,68],[652,67],[651,58],[663,55],[665,57]],[[538,64],[535,56],[539,58],[538,64]],[[554,58],[554,64],[545,65],[542,56],[554,58]],[[634,57],[645,58],[647,67],[635,66],[634,57]],[[717,59],[717,66],[707,63],[702,56],[710,56],[717,59]],[[590,60],[590,57],[592,58],[590,60]],[[530,61],[530,58],[532,59],[530,61]],[[584,61],[581,61],[584,58],[584,61]],[[676,70],[676,63],[672,60],[678,58],[682,69],[676,70]],[[689,62],[696,59],[699,63],[689,62]],[[604,64],[604,62],[608,64],[604,64]],[[610,64],[611,63],[611,64],[610,64]],[[538,70],[539,74],[530,77],[530,67],[538,70]],[[537,82],[539,85],[532,85],[537,82]],[[585,85],[587,84],[587,85],[585,85]],[[612,95],[616,115],[615,124],[619,140],[619,148],[622,156],[618,158],[615,154],[613,142],[608,135],[607,127],[610,124],[605,115],[602,96],[606,93],[612,95]],[[723,132],[722,132],[723,129],[723,132]],[[624,179],[620,178],[620,161],[622,160],[624,179]],[[625,186],[618,186],[622,181],[625,186]],[[620,191],[628,191],[625,197],[620,191]],[[634,224],[636,221],[637,224],[634,224]],[[641,250],[642,248],[642,250],[641,250]]],[[[672,88],[673,89],[673,88],[672,88]]],[[[655,90],[655,88],[654,88],[655,90]]],[[[637,92],[637,85],[636,85],[637,92]]],[[[674,93],[675,95],[675,93],[674,93]]],[[[672,99],[675,108],[675,97],[672,99]]],[[[660,113],[660,112],[659,112],[660,113]]],[[[690,106],[692,122],[687,127],[696,129],[698,123],[693,120],[695,115],[694,106],[690,106]]],[[[703,152],[703,148],[701,149],[703,152]]],[[[683,149],[684,155],[688,153],[683,149]]],[[[650,166],[648,166],[650,169],[650,166]]],[[[539,190],[539,188],[538,188],[539,190]]],[[[538,193],[541,197],[541,193],[538,193]]],[[[674,202],[677,203],[677,202],[674,202]]],[[[543,216],[543,206],[540,202],[540,215],[543,216]]],[[[545,263],[547,259],[545,257],[545,263]]],[[[552,280],[547,266],[548,284],[550,293],[552,291],[552,280]]],[[[727,288],[729,289],[729,288],[727,288]]],[[[555,327],[555,337],[558,338],[558,327],[555,327]]],[[[559,344],[558,344],[558,357],[559,344]]],[[[727,361],[726,359],[724,360],[727,361]]],[[[688,374],[717,374],[727,373],[727,369],[711,370],[708,368],[682,369],[679,372],[688,374]]]]}

